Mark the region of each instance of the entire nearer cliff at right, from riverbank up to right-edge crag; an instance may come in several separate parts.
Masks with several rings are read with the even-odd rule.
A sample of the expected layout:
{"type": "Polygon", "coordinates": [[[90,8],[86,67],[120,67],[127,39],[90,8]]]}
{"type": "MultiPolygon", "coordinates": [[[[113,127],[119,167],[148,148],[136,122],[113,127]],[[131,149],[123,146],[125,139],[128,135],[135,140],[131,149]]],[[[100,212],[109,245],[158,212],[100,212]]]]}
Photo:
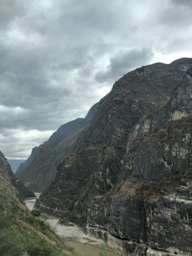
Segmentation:
{"type": "Polygon", "coordinates": [[[124,254],[192,253],[191,70],[129,134],[123,185],[88,208],[87,230],[124,254]]]}

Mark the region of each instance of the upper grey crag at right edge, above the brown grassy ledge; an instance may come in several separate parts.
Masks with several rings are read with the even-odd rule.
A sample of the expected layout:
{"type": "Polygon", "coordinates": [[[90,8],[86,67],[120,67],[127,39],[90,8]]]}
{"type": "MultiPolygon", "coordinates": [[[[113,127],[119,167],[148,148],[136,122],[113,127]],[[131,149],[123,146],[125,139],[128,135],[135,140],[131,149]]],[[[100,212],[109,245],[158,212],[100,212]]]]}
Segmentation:
{"type": "Polygon", "coordinates": [[[159,180],[192,166],[190,70],[174,89],[168,104],[134,128],[127,146],[125,175],[159,180]]]}

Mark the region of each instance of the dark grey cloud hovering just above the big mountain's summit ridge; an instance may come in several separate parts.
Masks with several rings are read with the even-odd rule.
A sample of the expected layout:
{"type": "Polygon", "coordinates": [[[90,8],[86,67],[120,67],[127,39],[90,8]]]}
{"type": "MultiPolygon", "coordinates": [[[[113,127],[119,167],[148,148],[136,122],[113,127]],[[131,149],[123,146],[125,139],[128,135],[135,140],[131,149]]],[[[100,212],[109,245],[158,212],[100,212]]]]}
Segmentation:
{"type": "Polygon", "coordinates": [[[96,74],[96,79],[100,82],[115,80],[134,68],[150,63],[154,53],[150,49],[128,50],[126,53],[117,53],[110,59],[110,65],[106,71],[96,74]]]}

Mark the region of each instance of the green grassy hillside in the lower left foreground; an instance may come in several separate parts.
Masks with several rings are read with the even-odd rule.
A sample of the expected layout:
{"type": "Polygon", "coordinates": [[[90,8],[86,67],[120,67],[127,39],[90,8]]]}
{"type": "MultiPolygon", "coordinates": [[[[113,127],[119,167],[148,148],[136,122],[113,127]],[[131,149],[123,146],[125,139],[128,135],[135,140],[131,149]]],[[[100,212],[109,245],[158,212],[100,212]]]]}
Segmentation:
{"type": "Polygon", "coordinates": [[[9,164],[0,152],[0,255],[75,256],[23,205],[11,177],[9,164]]]}

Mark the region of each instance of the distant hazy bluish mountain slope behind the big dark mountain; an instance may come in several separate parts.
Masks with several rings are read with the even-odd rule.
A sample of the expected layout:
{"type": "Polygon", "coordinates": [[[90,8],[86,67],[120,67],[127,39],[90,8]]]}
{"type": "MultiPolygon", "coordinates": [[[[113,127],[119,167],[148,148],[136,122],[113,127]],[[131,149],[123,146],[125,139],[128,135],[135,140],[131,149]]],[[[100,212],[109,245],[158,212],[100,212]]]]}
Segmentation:
{"type": "Polygon", "coordinates": [[[90,125],[97,104],[92,106],[85,118],[78,118],[63,124],[47,142],[36,146],[31,156],[21,164],[16,177],[34,192],[42,192],[53,181],[57,165],[68,156],[84,129],[90,125]]]}

